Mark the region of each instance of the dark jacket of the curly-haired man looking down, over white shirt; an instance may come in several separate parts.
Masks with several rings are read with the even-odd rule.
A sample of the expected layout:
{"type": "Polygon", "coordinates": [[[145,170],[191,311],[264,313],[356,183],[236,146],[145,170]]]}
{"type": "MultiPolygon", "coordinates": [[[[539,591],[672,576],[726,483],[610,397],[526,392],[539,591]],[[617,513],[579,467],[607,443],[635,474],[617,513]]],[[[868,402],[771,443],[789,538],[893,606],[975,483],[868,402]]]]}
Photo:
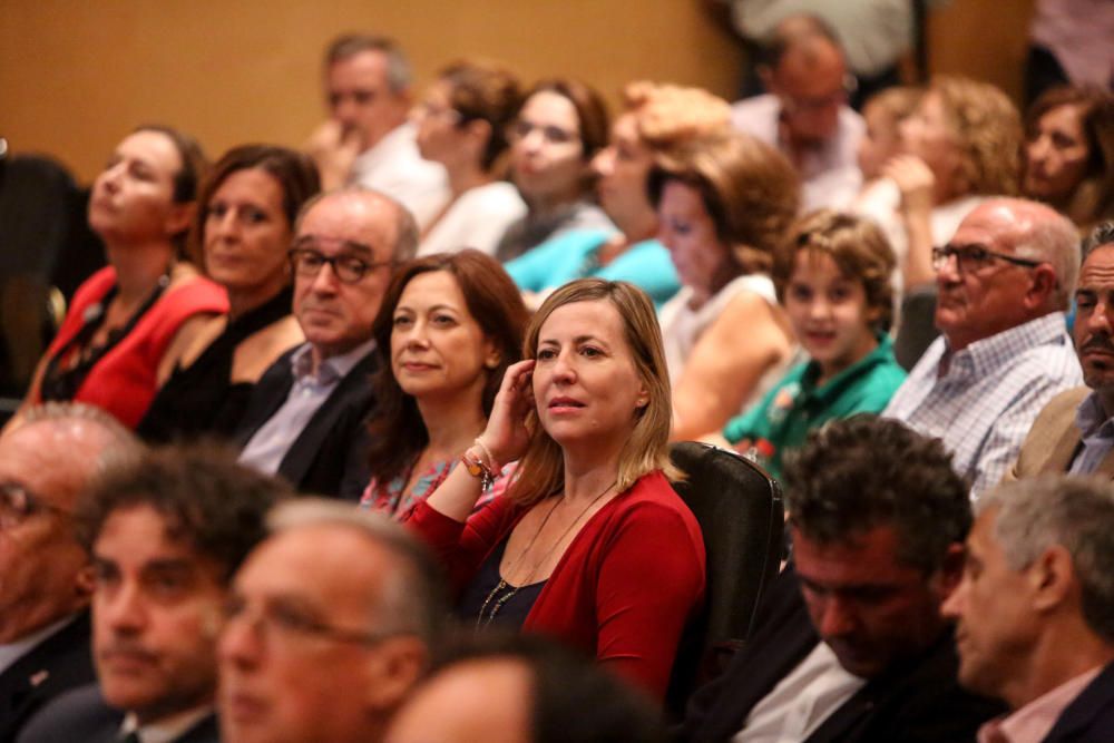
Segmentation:
{"type": "MultiPolygon", "coordinates": [[[[730,741],[751,708],[820,642],[792,567],[771,584],[758,620],[723,675],[693,695],[680,740],[730,741]]],[[[974,741],[978,726],[1004,707],[962,691],[958,665],[951,633],[945,633],[919,657],[870,680],[805,743],[974,741]]]]}

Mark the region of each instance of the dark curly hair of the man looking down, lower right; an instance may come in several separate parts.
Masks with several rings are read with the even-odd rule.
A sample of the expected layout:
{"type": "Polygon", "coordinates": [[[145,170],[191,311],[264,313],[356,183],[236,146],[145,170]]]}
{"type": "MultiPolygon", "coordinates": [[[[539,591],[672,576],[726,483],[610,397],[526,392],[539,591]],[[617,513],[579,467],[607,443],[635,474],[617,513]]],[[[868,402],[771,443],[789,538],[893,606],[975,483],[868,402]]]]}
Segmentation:
{"type": "Polygon", "coordinates": [[[785,501],[793,527],[821,544],[892,527],[898,557],[926,574],[971,526],[968,486],[944,442],[864,413],[812,431],[788,457],[785,501]]]}

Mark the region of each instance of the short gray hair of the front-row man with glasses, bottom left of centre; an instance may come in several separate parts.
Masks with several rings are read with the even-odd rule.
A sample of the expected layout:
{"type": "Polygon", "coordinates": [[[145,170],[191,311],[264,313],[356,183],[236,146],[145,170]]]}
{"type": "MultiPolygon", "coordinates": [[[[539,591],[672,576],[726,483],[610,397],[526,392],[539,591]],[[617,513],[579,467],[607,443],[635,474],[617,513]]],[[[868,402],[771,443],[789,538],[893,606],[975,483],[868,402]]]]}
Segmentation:
{"type": "Polygon", "coordinates": [[[336,500],[297,498],[280,504],[267,516],[271,534],[311,526],[350,529],[390,553],[395,565],[383,575],[371,628],[377,634],[413,634],[428,648],[438,646],[448,603],[443,571],[424,545],[387,516],[336,500]]]}

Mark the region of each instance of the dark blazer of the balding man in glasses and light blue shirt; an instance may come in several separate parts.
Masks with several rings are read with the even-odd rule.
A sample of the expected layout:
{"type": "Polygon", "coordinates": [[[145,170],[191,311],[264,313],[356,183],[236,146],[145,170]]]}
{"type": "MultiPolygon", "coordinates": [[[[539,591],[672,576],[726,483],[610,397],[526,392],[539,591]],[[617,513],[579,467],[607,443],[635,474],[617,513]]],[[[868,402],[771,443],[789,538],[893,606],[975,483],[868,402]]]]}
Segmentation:
{"type": "MultiPolygon", "coordinates": [[[[294,385],[290,359],[300,348],[282,354],[255,384],[247,412],[234,437],[241,448],[286,402],[294,385]]],[[[361,359],[291,444],[278,465],[278,475],[300,491],[360,498],[369,479],[365,422],[374,402],[371,375],[377,366],[374,351],[361,359]],[[342,488],[343,483],[348,485],[342,488]]]]}

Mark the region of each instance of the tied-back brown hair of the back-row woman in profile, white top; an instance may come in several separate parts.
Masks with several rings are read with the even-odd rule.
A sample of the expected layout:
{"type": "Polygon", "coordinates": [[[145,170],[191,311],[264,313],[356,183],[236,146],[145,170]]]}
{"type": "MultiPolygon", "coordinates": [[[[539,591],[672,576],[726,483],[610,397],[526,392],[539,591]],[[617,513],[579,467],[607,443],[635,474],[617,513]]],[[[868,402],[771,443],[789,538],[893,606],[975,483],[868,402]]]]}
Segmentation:
{"type": "Polygon", "coordinates": [[[480,166],[490,172],[507,150],[507,127],[522,104],[518,78],[509,70],[481,61],[458,61],[438,76],[449,86],[449,105],[460,124],[487,121],[491,127],[480,166]]]}

